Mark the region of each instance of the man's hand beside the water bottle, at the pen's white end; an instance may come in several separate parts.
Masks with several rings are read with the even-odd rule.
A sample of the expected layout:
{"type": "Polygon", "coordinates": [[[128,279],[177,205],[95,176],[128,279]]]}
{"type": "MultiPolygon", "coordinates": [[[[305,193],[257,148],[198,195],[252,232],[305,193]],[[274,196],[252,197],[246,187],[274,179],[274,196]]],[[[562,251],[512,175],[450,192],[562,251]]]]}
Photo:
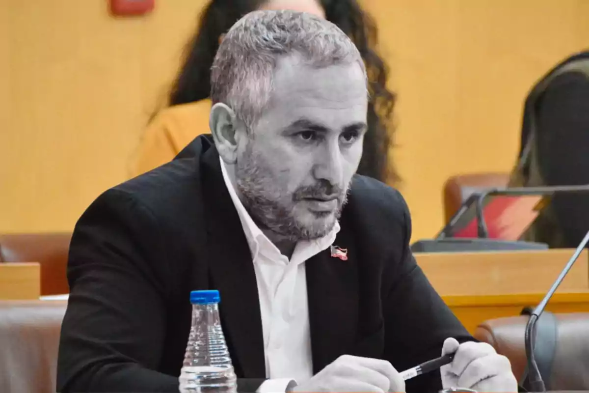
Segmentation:
{"type": "Polygon", "coordinates": [[[292,392],[404,392],[405,381],[391,363],[344,355],[292,392]]]}

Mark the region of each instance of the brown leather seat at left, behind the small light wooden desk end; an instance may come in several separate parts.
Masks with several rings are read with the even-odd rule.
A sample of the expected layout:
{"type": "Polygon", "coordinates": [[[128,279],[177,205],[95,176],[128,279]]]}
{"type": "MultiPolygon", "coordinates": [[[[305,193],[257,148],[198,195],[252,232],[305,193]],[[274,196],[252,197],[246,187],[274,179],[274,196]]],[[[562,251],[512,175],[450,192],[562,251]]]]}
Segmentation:
{"type": "Polygon", "coordinates": [[[69,293],[66,270],[71,233],[0,235],[0,262],[38,262],[41,295],[69,293]]]}

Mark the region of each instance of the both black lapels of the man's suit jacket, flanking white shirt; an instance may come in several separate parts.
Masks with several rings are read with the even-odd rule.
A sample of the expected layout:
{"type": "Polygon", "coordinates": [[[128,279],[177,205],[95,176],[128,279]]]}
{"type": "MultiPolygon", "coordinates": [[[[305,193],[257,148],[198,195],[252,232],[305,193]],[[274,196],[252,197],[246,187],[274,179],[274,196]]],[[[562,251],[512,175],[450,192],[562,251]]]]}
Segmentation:
{"type": "MultiPolygon", "coordinates": [[[[212,144],[212,141],[210,141],[212,144]]],[[[264,341],[256,274],[241,227],[221,173],[219,154],[209,147],[201,156],[207,258],[211,288],[221,295],[223,331],[236,372],[264,378],[264,341]]],[[[353,351],[358,330],[358,259],[345,218],[334,245],[348,249],[348,260],[327,249],[305,263],[309,323],[316,374],[338,356],[353,351]]],[[[196,288],[196,287],[195,287],[196,288]]]]}

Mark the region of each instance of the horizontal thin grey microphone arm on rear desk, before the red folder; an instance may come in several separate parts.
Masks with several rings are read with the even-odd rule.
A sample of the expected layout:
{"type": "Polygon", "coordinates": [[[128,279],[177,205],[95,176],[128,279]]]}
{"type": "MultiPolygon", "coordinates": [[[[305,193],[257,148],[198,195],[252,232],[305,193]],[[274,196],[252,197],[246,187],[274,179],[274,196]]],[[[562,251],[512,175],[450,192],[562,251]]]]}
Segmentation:
{"type": "Polygon", "coordinates": [[[544,187],[513,187],[508,189],[489,189],[476,194],[475,208],[477,214],[477,235],[480,238],[489,236],[487,223],[482,212],[482,202],[487,196],[505,195],[552,195],[554,193],[586,193],[589,192],[589,184],[582,186],[544,186],[544,187]]]}

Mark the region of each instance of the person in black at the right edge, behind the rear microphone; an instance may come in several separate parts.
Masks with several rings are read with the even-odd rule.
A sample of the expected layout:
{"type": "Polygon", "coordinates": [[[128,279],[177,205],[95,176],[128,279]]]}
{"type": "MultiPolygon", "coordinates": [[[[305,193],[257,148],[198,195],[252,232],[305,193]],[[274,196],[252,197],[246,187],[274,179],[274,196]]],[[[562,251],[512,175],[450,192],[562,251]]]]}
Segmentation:
{"type": "MultiPolygon", "coordinates": [[[[521,143],[509,187],[589,184],[589,50],[571,55],[535,83],[525,99],[521,143]]],[[[522,240],[577,247],[587,233],[585,193],[555,193],[522,240]]]]}

